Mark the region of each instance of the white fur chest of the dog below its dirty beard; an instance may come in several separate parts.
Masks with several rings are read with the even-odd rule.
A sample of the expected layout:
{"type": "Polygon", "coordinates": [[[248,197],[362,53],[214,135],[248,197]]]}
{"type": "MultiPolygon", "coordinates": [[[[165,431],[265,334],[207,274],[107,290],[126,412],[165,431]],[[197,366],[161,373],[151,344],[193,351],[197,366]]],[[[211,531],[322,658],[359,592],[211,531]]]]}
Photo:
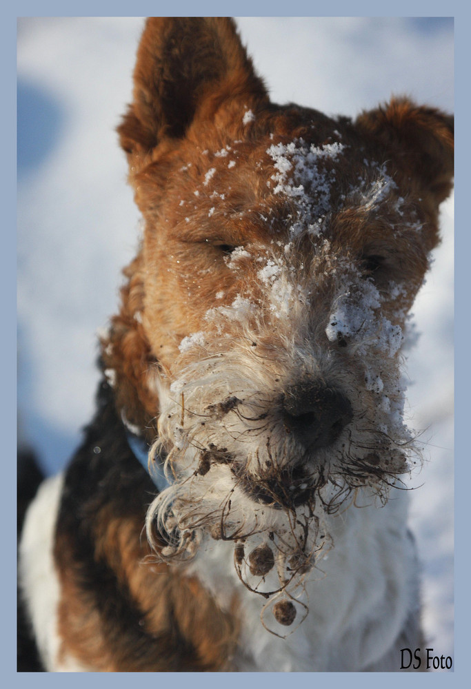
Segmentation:
{"type": "Polygon", "coordinates": [[[308,615],[301,624],[277,624],[265,598],[239,581],[233,544],[211,542],[191,570],[224,610],[237,597],[240,637],[232,668],[322,672],[362,670],[379,661],[399,635],[414,595],[406,497],[383,508],[352,506],[332,517],[334,547],[306,579],[300,597],[308,615]]]}

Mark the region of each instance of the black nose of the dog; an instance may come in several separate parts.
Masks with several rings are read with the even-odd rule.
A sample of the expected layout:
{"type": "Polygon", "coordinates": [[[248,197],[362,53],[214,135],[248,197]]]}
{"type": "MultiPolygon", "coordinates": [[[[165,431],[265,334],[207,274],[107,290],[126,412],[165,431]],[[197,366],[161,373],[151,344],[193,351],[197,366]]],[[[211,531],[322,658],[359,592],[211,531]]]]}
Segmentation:
{"type": "Polygon", "coordinates": [[[331,445],[352,418],[345,395],[321,382],[294,385],[283,397],[285,429],[306,449],[331,445]]]}

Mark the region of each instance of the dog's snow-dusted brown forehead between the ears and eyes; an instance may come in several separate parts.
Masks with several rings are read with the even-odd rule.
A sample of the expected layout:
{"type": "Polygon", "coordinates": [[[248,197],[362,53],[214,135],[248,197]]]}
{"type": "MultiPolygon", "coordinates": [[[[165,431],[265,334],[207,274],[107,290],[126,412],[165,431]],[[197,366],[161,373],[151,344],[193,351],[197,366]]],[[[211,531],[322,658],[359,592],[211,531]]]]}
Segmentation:
{"type": "Polygon", "coordinates": [[[229,232],[237,245],[280,233],[325,236],[339,214],[374,209],[378,224],[391,199],[396,212],[405,204],[397,177],[350,121],[316,111],[248,119],[217,136],[198,132],[181,146],[174,170],[166,196],[172,234],[190,239],[229,232]]]}

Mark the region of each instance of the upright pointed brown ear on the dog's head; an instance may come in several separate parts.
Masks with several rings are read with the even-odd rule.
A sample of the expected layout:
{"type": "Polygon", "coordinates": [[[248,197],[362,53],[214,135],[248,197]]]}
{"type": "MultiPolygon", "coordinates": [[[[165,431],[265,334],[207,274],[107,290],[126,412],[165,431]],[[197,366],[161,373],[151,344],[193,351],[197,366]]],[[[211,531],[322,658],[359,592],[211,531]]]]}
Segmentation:
{"type": "Polygon", "coordinates": [[[228,98],[268,99],[227,17],[150,17],[133,95],[118,132],[123,149],[141,156],[184,136],[195,118],[210,119],[228,98]]]}

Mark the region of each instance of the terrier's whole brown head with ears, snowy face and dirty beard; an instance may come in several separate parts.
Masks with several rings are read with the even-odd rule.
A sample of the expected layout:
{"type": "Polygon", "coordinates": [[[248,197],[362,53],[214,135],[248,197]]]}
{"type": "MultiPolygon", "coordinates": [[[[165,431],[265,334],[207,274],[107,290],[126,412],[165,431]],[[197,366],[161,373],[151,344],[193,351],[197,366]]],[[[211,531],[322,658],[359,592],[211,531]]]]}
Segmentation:
{"type": "Polygon", "coordinates": [[[233,539],[250,588],[272,569],[284,588],[326,514],[410,466],[399,351],[452,121],[273,105],[223,19],[148,21],[134,83],[120,134],[145,229],[103,357],[126,416],[159,419],[173,485],[149,531],[157,515],[163,557],[233,539]]]}

